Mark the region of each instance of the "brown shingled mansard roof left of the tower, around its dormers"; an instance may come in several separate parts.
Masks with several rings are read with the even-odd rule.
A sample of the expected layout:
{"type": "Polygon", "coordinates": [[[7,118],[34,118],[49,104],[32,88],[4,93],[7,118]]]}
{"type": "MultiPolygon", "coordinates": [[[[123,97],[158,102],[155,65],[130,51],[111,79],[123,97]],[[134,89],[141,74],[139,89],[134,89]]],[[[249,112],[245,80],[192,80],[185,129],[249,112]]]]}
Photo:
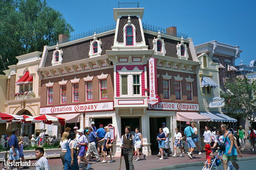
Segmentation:
{"type": "MultiPolygon", "coordinates": [[[[97,40],[101,39],[101,42],[102,42],[101,55],[105,55],[106,50],[111,50],[111,46],[114,45],[114,37],[115,37],[115,34],[109,34],[102,37],[97,37],[97,40]]],[[[65,47],[61,47],[61,50],[63,51],[62,64],[89,58],[90,41],[92,41],[92,39],[79,42],[76,44],[68,45],[65,47]]],[[[51,66],[52,54],[54,50],[55,49],[48,51],[44,67],[51,66]]]]}

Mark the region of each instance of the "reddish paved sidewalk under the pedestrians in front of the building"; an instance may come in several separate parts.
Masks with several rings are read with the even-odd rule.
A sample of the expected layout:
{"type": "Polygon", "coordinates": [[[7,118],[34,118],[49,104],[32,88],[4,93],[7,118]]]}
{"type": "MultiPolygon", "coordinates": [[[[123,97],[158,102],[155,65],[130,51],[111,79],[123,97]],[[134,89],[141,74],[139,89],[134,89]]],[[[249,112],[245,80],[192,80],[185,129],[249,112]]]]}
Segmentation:
{"type": "MultiPolygon", "coordinates": [[[[247,160],[247,159],[255,159],[256,160],[256,155],[250,155],[249,149],[242,150],[241,151],[243,158],[239,158],[240,161],[242,160],[247,160]]],[[[159,160],[159,157],[156,155],[151,155],[151,156],[146,156],[145,159],[143,159],[142,156],[140,156],[140,161],[134,161],[137,156],[133,157],[133,164],[135,169],[139,170],[148,170],[148,169],[158,169],[158,170],[170,170],[170,169],[176,169],[176,168],[183,168],[183,167],[190,167],[190,166],[200,166],[201,164],[203,165],[203,162],[206,160],[206,155],[205,152],[203,152],[201,155],[198,155],[198,153],[193,154],[193,159],[189,159],[186,154],[183,154],[184,157],[167,157],[164,158],[164,160],[159,160]]],[[[179,153],[177,154],[179,156],[179,153]]],[[[101,158],[103,160],[103,158],[101,158]]],[[[110,160],[109,157],[106,158],[106,160],[110,160]]],[[[113,162],[112,163],[100,163],[94,162],[95,159],[92,159],[92,161],[89,161],[89,163],[92,165],[91,170],[95,169],[102,169],[102,170],[118,170],[119,169],[119,164],[120,164],[120,157],[113,157],[113,162]]],[[[31,163],[35,163],[36,161],[33,160],[31,163]]],[[[49,167],[50,170],[61,170],[62,168],[62,163],[61,159],[48,159],[49,167]]],[[[85,169],[85,163],[82,162],[82,168],[80,170],[85,169]]],[[[30,169],[34,169],[34,167],[31,167],[30,169]]],[[[122,164],[121,164],[121,170],[125,169],[125,162],[124,158],[122,157],[122,164]]]]}

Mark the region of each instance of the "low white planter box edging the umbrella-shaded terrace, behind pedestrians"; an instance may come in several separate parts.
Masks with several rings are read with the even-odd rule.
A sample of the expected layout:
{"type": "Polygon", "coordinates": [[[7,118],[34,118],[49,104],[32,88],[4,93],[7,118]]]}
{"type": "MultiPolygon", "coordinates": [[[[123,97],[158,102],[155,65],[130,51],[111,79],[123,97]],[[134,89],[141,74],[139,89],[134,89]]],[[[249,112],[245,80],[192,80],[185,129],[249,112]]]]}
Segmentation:
{"type": "MultiPolygon", "coordinates": [[[[2,153],[2,152],[0,152],[0,153],[2,153]]],[[[44,156],[46,158],[59,157],[59,153],[60,153],[60,148],[57,148],[57,149],[44,149],[44,156]]],[[[26,160],[36,159],[36,157],[35,157],[35,150],[26,150],[26,151],[23,151],[23,154],[24,154],[24,159],[26,159],[26,160]]],[[[9,157],[9,151],[8,151],[8,157],[9,157]]],[[[0,161],[1,161],[1,159],[0,159],[0,161]]]]}

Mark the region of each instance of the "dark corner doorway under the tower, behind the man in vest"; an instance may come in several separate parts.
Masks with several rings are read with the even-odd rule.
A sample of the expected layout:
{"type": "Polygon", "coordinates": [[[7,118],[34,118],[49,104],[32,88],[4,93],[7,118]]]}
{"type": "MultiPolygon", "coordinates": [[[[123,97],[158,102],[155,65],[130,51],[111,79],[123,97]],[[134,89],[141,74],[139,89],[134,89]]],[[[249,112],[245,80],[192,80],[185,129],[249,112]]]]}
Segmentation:
{"type": "Polygon", "coordinates": [[[125,134],[125,127],[131,127],[131,134],[135,135],[135,128],[141,128],[140,118],[121,118],[121,135],[125,134]]]}

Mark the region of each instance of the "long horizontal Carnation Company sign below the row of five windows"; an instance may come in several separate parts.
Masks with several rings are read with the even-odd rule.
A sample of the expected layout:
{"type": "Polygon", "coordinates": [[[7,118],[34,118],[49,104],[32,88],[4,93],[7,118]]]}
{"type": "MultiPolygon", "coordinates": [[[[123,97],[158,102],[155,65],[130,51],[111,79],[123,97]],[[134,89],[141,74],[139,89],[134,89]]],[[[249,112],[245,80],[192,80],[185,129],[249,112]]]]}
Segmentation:
{"type": "Polygon", "coordinates": [[[107,111],[107,110],[114,110],[113,102],[41,107],[40,114],[80,113],[80,112],[95,112],[95,111],[107,111]]]}

